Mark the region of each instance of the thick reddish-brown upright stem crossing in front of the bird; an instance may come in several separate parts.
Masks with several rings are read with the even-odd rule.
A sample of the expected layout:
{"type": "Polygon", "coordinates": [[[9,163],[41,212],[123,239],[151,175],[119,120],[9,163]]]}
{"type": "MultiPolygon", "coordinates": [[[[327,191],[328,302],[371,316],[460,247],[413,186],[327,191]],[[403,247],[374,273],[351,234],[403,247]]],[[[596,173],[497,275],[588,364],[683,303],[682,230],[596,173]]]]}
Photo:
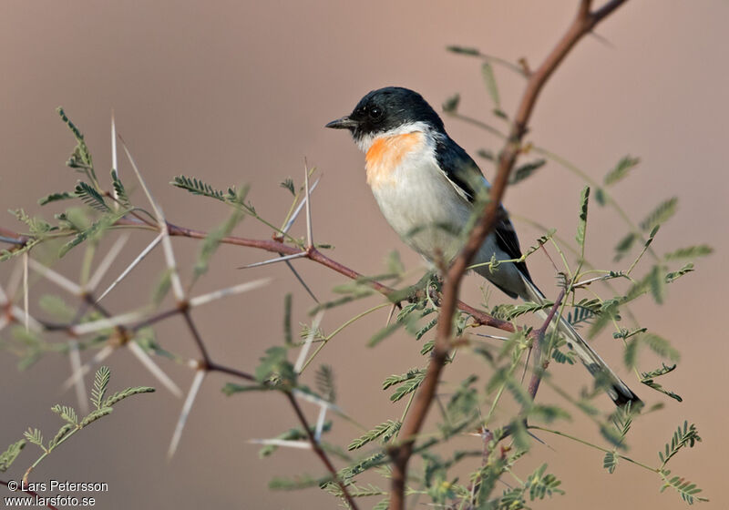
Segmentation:
{"type": "Polygon", "coordinates": [[[466,245],[447,272],[443,285],[443,301],[436,328],[436,342],[428,363],[426,377],[416,393],[416,398],[406,422],[403,423],[400,432],[403,440],[389,451],[393,459],[392,490],[390,492],[390,505],[388,506],[390,510],[405,508],[407,464],[413,453],[416,435],[420,432],[426,420],[428,409],[433,402],[436,386],[440,380],[440,373],[450,350],[453,316],[457,310],[460,283],[477,251],[498,221],[500,203],[506,191],[508,176],[519,157],[521,140],[527,133],[529,118],[534,110],[539,93],[547,83],[549,76],[560,66],[564,57],[570,53],[570,50],[580,38],[589,33],[602,18],[610,15],[624,2],[625,0],[613,0],[601,7],[599,11],[592,13],[590,12],[590,1],[581,0],[578,14],[564,36],[561,37],[557,46],[552,49],[537,70],[529,75],[529,81],[519,102],[517,115],[514,117],[506,146],[502,149],[498,158],[498,172],[490,191],[490,201],[485,206],[481,218],[471,230],[466,245]]]}

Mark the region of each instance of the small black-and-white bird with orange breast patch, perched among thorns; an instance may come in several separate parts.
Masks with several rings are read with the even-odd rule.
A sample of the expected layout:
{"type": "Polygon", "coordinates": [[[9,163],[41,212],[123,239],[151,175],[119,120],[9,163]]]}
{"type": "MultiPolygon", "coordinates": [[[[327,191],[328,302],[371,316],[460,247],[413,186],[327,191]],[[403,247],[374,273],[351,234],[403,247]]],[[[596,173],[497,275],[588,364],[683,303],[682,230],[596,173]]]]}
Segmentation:
{"type": "MultiPolygon", "coordinates": [[[[446,132],[426,100],[405,87],[384,87],[366,94],[349,115],[325,128],[347,129],[364,152],[365,176],[385,219],[410,248],[431,263],[456,257],[479,193],[489,189],[476,162],[446,132]]],[[[519,238],[499,205],[495,229],[472,264],[500,262],[496,270],[474,270],[511,298],[543,304],[544,293],[521,258],[519,238]]],[[[541,311],[546,318],[546,311],[541,311]]],[[[619,407],[642,401],[585,342],[569,321],[556,327],[567,345],[619,407]]]]}

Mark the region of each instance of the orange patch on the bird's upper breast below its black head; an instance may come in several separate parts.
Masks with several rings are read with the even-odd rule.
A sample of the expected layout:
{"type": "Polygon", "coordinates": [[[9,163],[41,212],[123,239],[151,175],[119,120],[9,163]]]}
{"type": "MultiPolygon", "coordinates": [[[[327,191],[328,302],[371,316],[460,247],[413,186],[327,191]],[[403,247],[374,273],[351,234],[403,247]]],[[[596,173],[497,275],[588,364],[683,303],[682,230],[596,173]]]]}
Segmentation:
{"type": "Polygon", "coordinates": [[[373,188],[395,184],[395,168],[410,152],[421,148],[424,141],[421,131],[375,139],[364,157],[367,184],[373,188]]]}

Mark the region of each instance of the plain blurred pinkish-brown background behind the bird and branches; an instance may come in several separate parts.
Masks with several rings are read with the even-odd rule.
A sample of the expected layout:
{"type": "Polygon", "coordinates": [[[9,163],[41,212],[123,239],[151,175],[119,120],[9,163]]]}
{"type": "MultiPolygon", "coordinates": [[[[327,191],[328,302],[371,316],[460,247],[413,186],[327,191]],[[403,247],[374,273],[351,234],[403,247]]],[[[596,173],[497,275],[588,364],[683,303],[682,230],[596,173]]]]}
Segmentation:
{"type": "MultiPolygon", "coordinates": [[[[409,267],[416,266],[419,260],[402,247],[376,209],[364,183],[362,154],[344,133],[325,130],[323,124],[349,112],[368,90],[385,85],[415,88],[434,106],[460,92],[462,111],[493,121],[478,62],[449,54],[445,46],[477,46],[512,61],[526,56],[537,66],[569,23],[576,4],[5,1],[0,5],[0,209],[38,212],[37,198],[72,189],[76,176],[64,161],[73,140],[56,116],[59,105],[86,133],[98,173],[108,179],[113,108],[118,131],[171,221],[208,230],[228,214],[222,205],[172,189],[171,177],[183,173],[221,188],[250,183],[254,205],[277,222],[289,204],[278,183],[289,176],[301,182],[306,157],[323,172],[313,199],[315,236],[335,245],[336,260],[374,274],[382,269],[385,255],[398,249],[409,267]]],[[[635,308],[643,325],[670,338],[683,353],[679,370],[662,382],[681,393],[685,402],[674,403],[642,389],[651,403],[667,405],[635,424],[631,456],[656,464],[656,452],[675,426],[683,419],[695,421],[703,444],[680,454],[673,472],[695,480],[718,508],[723,507],[729,382],[721,315],[727,283],[723,262],[729,249],[724,172],[727,15],[729,5],[720,0],[636,0],[625,5],[599,27],[607,43],[588,37],[551,79],[530,134],[530,139],[570,158],[595,179],[623,155],[640,156],[641,167],[615,190],[633,218],[642,219],[662,199],[680,197],[679,212],[662,228],[655,249],[662,253],[701,242],[714,245],[714,255],[697,260],[694,274],[669,287],[662,307],[645,299],[635,308]]],[[[497,76],[504,108],[512,112],[523,83],[501,67],[497,76]]],[[[453,119],[446,122],[453,138],[472,154],[477,148],[500,146],[476,128],[453,119]]],[[[493,177],[490,165],[483,169],[493,177]]],[[[128,184],[133,182],[126,161],[120,171],[128,184]]],[[[539,219],[571,239],[581,185],[580,179],[549,164],[508,191],[508,209],[539,219]]],[[[139,189],[136,197],[144,201],[139,189]]],[[[47,216],[50,212],[44,211],[47,216]]],[[[0,224],[21,229],[10,215],[0,224]]],[[[523,224],[517,227],[522,244],[539,236],[523,224]]],[[[593,207],[590,259],[608,264],[611,248],[624,231],[611,209],[593,207]]],[[[236,233],[270,234],[251,219],[236,233]]],[[[296,234],[303,235],[302,224],[296,234]]],[[[149,240],[151,235],[138,234],[111,273],[118,273],[149,240]]],[[[183,274],[189,275],[197,244],[175,240],[175,247],[183,274]]],[[[74,259],[79,255],[80,251],[73,253],[59,268],[76,274],[74,259]]],[[[274,277],[272,285],[255,296],[241,295],[194,313],[212,356],[248,371],[267,346],[282,342],[286,291],[294,293],[294,321],[310,320],[312,303],[284,267],[234,269],[268,256],[223,247],[209,276],[195,289],[201,293],[231,282],[274,277]]],[[[553,292],[549,262],[536,256],[533,260],[532,272],[548,293],[553,292]]],[[[159,252],[151,256],[134,278],[109,296],[108,307],[127,311],[146,301],[161,261],[159,252]]],[[[343,281],[313,263],[296,265],[323,299],[343,281]]],[[[11,264],[0,265],[0,282],[7,281],[11,269],[11,264]]],[[[467,280],[468,301],[478,302],[479,284],[475,278],[467,280]]],[[[32,295],[43,288],[39,285],[32,295]]],[[[328,313],[323,328],[332,331],[347,316],[376,302],[328,313]]],[[[33,307],[36,310],[35,303],[33,307]]],[[[320,358],[334,364],[339,402],[367,426],[402,412],[402,404],[389,403],[389,393],[378,390],[385,376],[421,363],[419,345],[405,336],[395,336],[375,350],[365,347],[368,334],[384,324],[385,315],[375,313],[355,324],[320,358]]],[[[158,333],[163,346],[194,354],[189,333],[177,321],[161,324],[158,333]]],[[[609,334],[597,345],[613,365],[621,366],[621,349],[609,334]]],[[[644,370],[659,364],[647,352],[644,360],[644,370]]],[[[7,353],[0,358],[2,445],[18,439],[28,425],[49,435],[58,421],[48,408],[74,403],[72,392],[56,389],[68,375],[66,359],[49,355],[22,373],[16,372],[15,362],[7,353]]],[[[189,387],[190,371],[160,363],[180,387],[189,387]]],[[[112,389],[159,386],[128,352],[114,354],[108,364],[112,389]]],[[[587,383],[581,368],[556,369],[561,383],[587,383]]],[[[447,372],[457,370],[455,365],[447,372]]],[[[307,382],[313,382],[312,375],[307,382]]],[[[482,381],[487,378],[484,374],[482,381]]],[[[634,378],[628,380],[639,385],[634,378]]],[[[290,494],[266,488],[274,474],[316,474],[323,468],[311,452],[300,450],[259,460],[258,446],[247,441],[296,425],[293,412],[277,395],[227,398],[220,392],[227,381],[211,374],[203,384],[180,449],[170,462],[166,451],[181,401],[160,389],[120,403],[114,416],[69,441],[34,476],[38,481],[55,477],[108,482],[110,492],[98,495],[98,506],[109,509],[333,508],[334,499],[315,489],[290,494]]],[[[541,398],[552,396],[545,391],[541,398]]],[[[601,403],[609,408],[606,399],[601,403]]],[[[304,408],[314,420],[315,408],[304,408]]],[[[562,428],[600,441],[595,427],[584,420],[576,418],[562,428]]],[[[337,421],[330,440],[347,444],[358,434],[351,424],[337,421]]],[[[610,475],[601,467],[599,452],[554,437],[544,439],[550,448],[536,446],[520,473],[544,460],[564,480],[568,494],[539,503],[539,508],[684,506],[670,491],[659,494],[657,476],[624,462],[610,475]]],[[[460,445],[474,447],[468,441],[460,445]]],[[[36,452],[29,451],[16,461],[15,476],[35,459],[36,452]]],[[[363,500],[363,507],[377,499],[370,504],[363,500]]]]}

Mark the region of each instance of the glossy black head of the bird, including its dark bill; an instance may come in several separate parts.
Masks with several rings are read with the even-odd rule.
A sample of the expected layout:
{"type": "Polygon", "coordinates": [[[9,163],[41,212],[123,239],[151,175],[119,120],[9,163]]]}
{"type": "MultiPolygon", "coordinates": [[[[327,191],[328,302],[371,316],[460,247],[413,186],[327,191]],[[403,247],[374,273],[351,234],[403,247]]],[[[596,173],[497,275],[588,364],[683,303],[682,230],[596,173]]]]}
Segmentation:
{"type": "Polygon", "coordinates": [[[373,90],[357,103],[350,115],[333,120],[325,127],[349,129],[359,141],[416,122],[444,130],[436,110],[420,94],[408,88],[385,87],[373,90]]]}

